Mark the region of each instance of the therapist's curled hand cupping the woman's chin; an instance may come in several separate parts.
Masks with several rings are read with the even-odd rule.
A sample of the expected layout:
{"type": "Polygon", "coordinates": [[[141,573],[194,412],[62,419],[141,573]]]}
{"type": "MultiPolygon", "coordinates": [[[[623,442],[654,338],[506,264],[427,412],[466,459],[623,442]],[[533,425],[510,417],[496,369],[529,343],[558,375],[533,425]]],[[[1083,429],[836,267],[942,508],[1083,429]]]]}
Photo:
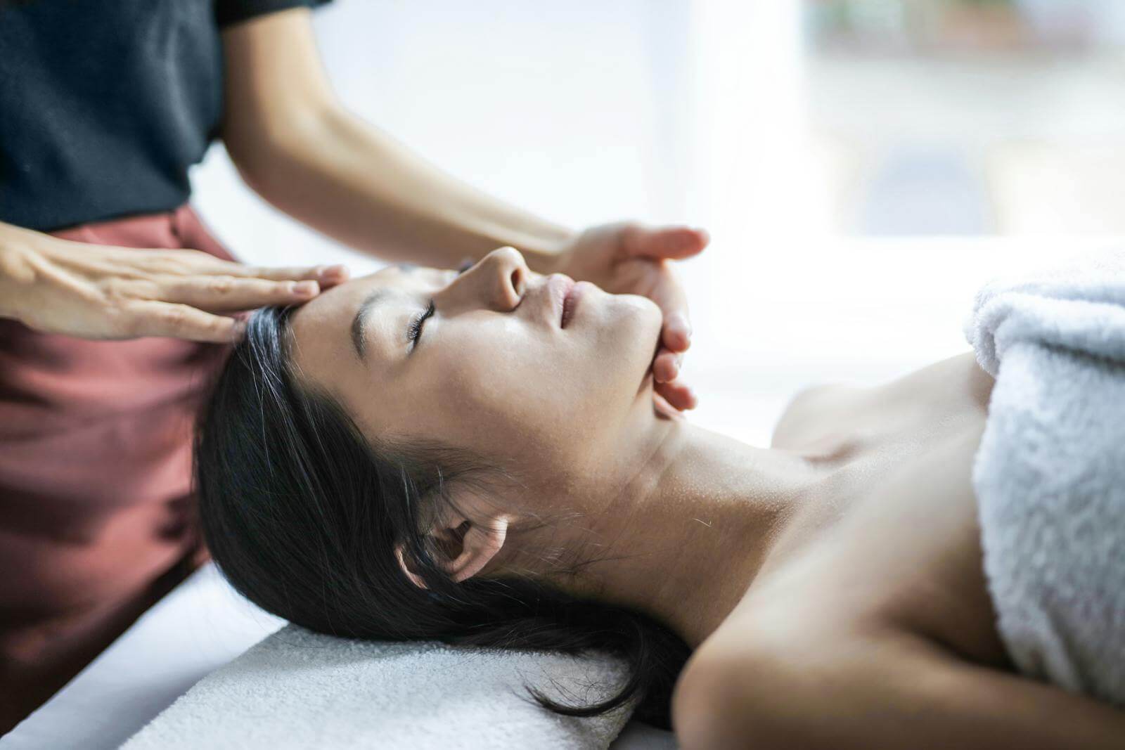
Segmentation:
{"type": "Polygon", "coordinates": [[[641,295],[664,313],[660,345],[652,360],[657,406],[695,407],[696,398],[680,380],[684,352],[691,345],[687,299],[668,261],[698,255],[710,237],[688,227],[649,228],[632,222],[586,229],[559,254],[554,270],[585,280],[614,295],[641,295]]]}

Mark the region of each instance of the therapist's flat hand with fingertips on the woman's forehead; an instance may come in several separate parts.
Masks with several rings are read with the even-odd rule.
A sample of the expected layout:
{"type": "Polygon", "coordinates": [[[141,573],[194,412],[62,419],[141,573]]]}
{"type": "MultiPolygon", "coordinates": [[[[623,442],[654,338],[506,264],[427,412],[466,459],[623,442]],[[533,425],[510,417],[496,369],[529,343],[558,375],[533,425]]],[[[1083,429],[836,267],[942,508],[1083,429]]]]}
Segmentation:
{"type": "Polygon", "coordinates": [[[198,250],[93,245],[0,226],[0,317],[80,338],[235,342],[240,310],[290,305],[348,269],[243,265],[198,250]]]}

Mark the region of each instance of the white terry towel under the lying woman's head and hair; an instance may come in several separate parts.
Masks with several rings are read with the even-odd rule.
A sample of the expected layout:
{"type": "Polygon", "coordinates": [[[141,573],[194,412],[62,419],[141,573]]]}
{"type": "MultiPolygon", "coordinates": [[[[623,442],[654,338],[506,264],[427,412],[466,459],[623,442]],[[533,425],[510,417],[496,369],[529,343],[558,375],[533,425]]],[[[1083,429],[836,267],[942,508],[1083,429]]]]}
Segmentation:
{"type": "Polygon", "coordinates": [[[604,749],[631,706],[559,716],[529,705],[523,686],[574,703],[608,697],[624,678],[624,666],[605,658],[357,641],[287,625],[122,747],[604,749]],[[587,690],[596,683],[604,687],[587,690]]]}

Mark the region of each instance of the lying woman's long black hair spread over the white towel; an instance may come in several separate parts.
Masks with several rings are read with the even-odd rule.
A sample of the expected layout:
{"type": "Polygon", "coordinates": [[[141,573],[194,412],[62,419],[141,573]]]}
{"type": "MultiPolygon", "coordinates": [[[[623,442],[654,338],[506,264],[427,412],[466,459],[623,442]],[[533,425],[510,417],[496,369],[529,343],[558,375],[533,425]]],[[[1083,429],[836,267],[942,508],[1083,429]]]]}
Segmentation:
{"type": "Polygon", "coordinates": [[[452,503],[454,488],[487,493],[496,468],[438,441],[372,444],[336,399],[298,385],[289,355],[294,309],[251,315],[198,422],[199,521],[231,585],[263,609],[331,635],[610,653],[624,660],[629,678],[605,701],[562,705],[528,690],[569,716],[636,699],[638,717],[670,729],[686,643],[639,612],[569,595],[539,576],[450,580],[424,533],[428,518],[452,503]],[[426,589],[404,575],[396,544],[426,589]]]}

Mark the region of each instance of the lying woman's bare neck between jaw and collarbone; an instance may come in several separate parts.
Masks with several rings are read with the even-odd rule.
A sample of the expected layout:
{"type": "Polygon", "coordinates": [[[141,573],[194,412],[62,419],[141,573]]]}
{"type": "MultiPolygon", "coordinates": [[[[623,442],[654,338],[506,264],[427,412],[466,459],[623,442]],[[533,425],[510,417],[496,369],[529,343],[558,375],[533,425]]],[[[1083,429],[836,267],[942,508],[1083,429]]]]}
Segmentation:
{"type": "Polygon", "coordinates": [[[606,470],[600,507],[585,508],[592,544],[582,546],[598,553],[568,588],[640,609],[694,649],[746,594],[826,467],[684,421],[651,426],[606,470]]]}

